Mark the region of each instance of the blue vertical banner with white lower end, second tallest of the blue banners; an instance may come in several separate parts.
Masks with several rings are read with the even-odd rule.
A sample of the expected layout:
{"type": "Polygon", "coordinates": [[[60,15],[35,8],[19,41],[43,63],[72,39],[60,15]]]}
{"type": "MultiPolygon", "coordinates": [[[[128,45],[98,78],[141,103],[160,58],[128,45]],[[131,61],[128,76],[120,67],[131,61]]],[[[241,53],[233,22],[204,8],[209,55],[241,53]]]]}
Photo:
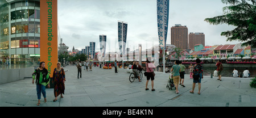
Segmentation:
{"type": "Polygon", "coordinates": [[[118,44],[119,44],[119,50],[122,54],[125,54],[125,45],[126,45],[126,38],[127,38],[127,23],[118,22],[118,44]],[[122,42],[122,33],[123,33],[123,42],[122,42]],[[123,50],[122,50],[123,45],[123,50]]]}

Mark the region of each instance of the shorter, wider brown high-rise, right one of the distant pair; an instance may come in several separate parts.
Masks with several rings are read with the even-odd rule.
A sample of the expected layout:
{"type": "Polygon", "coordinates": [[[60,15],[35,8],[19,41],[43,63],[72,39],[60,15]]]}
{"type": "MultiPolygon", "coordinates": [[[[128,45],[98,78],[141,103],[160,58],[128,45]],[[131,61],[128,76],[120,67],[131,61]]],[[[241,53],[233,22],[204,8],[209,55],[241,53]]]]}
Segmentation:
{"type": "Polygon", "coordinates": [[[193,49],[196,44],[202,44],[205,47],[204,33],[189,33],[189,49],[193,49]]]}

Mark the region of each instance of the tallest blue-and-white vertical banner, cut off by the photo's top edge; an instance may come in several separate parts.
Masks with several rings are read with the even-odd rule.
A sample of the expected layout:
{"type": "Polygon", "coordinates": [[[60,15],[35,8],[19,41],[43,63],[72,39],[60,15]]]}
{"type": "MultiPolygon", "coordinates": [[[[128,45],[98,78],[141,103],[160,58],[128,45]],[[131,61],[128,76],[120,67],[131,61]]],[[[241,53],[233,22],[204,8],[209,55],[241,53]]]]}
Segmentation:
{"type": "Polygon", "coordinates": [[[166,47],[167,32],[168,32],[169,0],[157,0],[157,16],[158,16],[159,45],[161,49],[164,49],[164,47],[166,47]],[[164,40],[163,40],[163,35],[164,35],[164,40]]]}

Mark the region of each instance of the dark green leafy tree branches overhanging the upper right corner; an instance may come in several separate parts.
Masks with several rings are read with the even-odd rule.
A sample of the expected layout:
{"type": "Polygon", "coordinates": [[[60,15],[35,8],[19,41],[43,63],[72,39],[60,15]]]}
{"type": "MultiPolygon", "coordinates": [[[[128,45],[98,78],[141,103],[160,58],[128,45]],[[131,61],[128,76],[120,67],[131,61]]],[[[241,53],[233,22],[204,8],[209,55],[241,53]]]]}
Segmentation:
{"type": "Polygon", "coordinates": [[[226,41],[245,41],[242,46],[256,48],[256,0],[221,0],[230,4],[223,8],[224,15],[205,19],[210,24],[228,24],[236,26],[232,31],[221,32],[226,41]]]}

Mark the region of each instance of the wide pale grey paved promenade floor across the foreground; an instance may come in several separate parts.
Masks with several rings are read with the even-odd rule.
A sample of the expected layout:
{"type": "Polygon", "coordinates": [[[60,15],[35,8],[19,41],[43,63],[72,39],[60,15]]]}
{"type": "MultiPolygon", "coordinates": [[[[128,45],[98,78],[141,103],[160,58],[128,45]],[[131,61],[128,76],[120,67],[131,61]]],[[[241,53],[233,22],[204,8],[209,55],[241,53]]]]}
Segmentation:
{"type": "MultiPolygon", "coordinates": [[[[169,73],[155,72],[154,88],[145,90],[146,77],[142,82],[129,81],[126,69],[106,70],[93,67],[86,71],[82,67],[82,78],[77,79],[76,66],[64,67],[66,74],[64,98],[58,96],[53,102],[53,88],[46,89],[47,102],[43,95],[39,107],[255,107],[256,88],[251,88],[251,78],[204,76],[201,94],[191,94],[192,79],[185,74],[184,85],[179,86],[179,94],[166,88],[169,73]]],[[[32,74],[32,72],[31,72],[32,74]]],[[[0,107],[38,107],[36,85],[32,78],[0,85],[0,107]]]]}

